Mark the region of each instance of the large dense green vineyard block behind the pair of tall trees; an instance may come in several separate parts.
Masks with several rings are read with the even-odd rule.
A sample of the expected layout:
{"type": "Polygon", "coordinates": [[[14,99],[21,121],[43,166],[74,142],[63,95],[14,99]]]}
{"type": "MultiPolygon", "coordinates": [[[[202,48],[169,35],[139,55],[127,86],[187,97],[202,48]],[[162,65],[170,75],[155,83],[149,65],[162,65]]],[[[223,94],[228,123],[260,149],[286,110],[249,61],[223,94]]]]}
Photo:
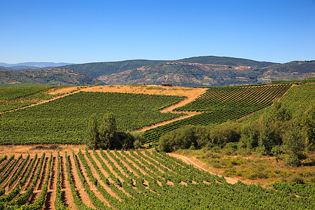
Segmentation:
{"type": "Polygon", "coordinates": [[[92,113],[113,113],[118,130],[137,130],[183,116],[160,113],[183,97],[116,92],[78,92],[45,104],[0,114],[1,144],[84,144],[92,113]]]}

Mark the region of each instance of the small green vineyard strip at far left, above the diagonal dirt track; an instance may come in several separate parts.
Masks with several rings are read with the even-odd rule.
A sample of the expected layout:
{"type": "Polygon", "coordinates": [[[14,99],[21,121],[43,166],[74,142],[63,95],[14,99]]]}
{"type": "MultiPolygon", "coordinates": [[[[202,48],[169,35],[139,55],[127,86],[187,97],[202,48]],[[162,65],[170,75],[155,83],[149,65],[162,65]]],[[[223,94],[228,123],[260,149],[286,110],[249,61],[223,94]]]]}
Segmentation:
{"type": "Polygon", "coordinates": [[[40,100],[51,99],[53,95],[45,93],[57,86],[30,86],[0,88],[0,112],[36,104],[40,100]]]}

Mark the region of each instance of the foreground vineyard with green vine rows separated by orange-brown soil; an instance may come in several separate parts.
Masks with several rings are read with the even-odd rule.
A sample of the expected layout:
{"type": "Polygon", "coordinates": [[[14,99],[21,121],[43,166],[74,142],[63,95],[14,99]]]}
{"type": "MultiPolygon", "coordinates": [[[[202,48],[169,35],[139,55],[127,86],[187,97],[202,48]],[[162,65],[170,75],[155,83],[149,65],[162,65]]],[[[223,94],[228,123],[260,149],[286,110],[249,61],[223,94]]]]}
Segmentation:
{"type": "Polygon", "coordinates": [[[155,151],[85,150],[20,157],[0,159],[1,177],[9,174],[0,183],[0,209],[315,208],[312,185],[230,184],[155,151]],[[18,178],[10,181],[16,174],[18,178]]]}

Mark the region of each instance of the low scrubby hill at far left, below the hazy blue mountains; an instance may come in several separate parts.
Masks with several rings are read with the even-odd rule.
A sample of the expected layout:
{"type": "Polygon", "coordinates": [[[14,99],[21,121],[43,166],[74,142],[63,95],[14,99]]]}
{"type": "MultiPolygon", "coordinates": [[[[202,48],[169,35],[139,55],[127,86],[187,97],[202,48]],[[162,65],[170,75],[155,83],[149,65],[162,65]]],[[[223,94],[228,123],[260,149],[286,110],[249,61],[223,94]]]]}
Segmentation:
{"type": "Polygon", "coordinates": [[[19,71],[0,69],[0,83],[45,83],[49,85],[105,84],[91,76],[70,69],[25,69],[19,71]]]}

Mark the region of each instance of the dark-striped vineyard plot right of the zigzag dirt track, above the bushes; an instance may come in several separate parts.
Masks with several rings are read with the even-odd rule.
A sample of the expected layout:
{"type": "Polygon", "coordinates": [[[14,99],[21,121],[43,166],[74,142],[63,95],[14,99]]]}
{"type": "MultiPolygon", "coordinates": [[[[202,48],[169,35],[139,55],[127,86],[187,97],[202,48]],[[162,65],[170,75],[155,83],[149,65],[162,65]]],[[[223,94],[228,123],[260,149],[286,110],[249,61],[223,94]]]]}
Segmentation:
{"type": "Polygon", "coordinates": [[[174,111],[204,111],[197,116],[178,120],[144,132],[148,143],[156,144],[166,132],[184,125],[220,124],[247,116],[272,104],[291,85],[262,85],[248,87],[211,87],[194,102],[174,111]]]}

